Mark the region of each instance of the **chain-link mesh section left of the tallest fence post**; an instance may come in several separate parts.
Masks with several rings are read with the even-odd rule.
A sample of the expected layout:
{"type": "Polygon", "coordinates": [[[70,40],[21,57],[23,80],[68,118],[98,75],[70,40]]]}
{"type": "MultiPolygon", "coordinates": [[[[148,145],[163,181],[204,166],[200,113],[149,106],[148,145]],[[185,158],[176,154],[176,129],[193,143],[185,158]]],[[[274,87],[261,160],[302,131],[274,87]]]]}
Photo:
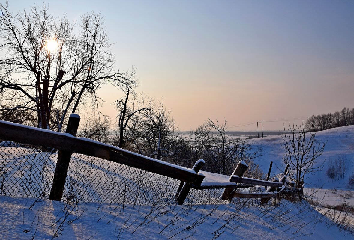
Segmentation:
{"type": "Polygon", "coordinates": [[[15,143],[12,147],[0,148],[1,194],[12,197],[48,197],[57,154],[15,143]]]}

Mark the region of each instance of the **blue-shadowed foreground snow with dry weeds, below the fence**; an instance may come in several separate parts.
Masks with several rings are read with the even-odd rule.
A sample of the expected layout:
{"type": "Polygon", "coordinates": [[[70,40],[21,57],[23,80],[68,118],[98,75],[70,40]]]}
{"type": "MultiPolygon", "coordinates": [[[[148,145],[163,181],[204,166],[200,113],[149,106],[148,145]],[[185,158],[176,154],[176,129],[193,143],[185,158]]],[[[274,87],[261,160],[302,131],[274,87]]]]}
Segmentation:
{"type": "Polygon", "coordinates": [[[1,239],[353,239],[306,203],[134,207],[42,200],[29,210],[35,200],[0,196],[1,239]]]}

